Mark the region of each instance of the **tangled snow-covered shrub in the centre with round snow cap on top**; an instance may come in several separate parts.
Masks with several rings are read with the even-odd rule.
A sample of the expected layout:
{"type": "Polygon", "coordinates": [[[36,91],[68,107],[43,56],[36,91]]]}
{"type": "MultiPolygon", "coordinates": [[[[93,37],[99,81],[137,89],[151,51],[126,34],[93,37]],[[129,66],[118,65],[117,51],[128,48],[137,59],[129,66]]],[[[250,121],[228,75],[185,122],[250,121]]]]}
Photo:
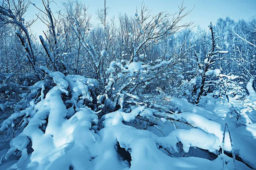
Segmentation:
{"type": "Polygon", "coordinates": [[[172,93],[176,63],[173,58],[154,62],[111,62],[106,71],[105,91],[97,97],[102,104],[99,107],[105,106],[109,111],[130,110],[141,105],[151,108],[163,102],[165,94],[172,93]]]}

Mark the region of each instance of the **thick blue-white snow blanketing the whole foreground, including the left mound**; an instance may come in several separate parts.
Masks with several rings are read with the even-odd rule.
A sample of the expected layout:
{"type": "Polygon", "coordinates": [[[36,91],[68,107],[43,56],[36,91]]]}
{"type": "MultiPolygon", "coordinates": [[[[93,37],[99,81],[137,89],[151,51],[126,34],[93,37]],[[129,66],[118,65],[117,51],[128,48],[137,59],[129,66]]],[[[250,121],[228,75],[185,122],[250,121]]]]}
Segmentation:
{"type": "MultiPolygon", "coordinates": [[[[208,94],[192,105],[166,96],[170,112],[139,106],[99,119],[99,112],[83,105],[83,100],[93,100],[95,79],[41,69],[56,86],[46,96],[42,92],[37,104],[32,100],[26,110],[3,121],[2,131],[18,116],[24,116],[27,125],[9,146],[1,146],[1,170],[256,169],[256,101],[250,82],[244,101],[227,102],[208,94]],[[72,97],[64,103],[61,95],[68,94],[68,88],[72,97]],[[139,129],[135,125],[140,117],[156,122],[139,129]],[[30,142],[33,151],[28,154],[30,142]],[[14,153],[19,153],[18,160],[14,153]]],[[[44,91],[44,83],[36,85],[41,87],[37,91],[44,91]]]]}

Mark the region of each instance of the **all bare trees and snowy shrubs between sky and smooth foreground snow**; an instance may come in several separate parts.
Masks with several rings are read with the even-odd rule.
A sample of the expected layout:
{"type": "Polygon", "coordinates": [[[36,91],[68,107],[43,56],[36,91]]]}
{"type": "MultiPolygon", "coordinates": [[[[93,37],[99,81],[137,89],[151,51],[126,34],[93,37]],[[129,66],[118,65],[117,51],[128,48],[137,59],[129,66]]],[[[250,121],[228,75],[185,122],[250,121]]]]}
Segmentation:
{"type": "MultiPolygon", "coordinates": [[[[123,118],[142,129],[163,120],[199,127],[182,121],[182,116],[166,116],[183,112],[170,96],[200,104],[211,94],[237,113],[231,98],[243,101],[256,88],[256,18],[237,22],[220,18],[203,30],[192,23],[180,25],[189,14],[183,5],[173,15],[153,16],[142,5],[134,16],[119,14],[106,20],[105,1],[96,13],[101,25],[93,26],[87,7],[78,1],[63,3],[64,10],[58,14],[52,13],[49,1],[42,3],[44,9],[26,0],[0,4],[0,123],[1,136],[8,136],[6,143],[29,127],[36,105],[49,98],[55,85],[68,112],[65,119],[85,107],[95,111],[99,120],[120,109],[123,113],[152,109],[154,118],[151,112],[132,113],[138,119],[135,123],[123,118]],[[38,20],[47,25],[44,35],[35,36],[34,21],[23,18],[28,6],[40,12],[38,20]]],[[[255,111],[255,106],[250,107],[255,111]]],[[[39,128],[45,132],[50,120],[45,116],[42,121],[39,128]]],[[[254,166],[250,161],[246,164],[254,166]]]]}

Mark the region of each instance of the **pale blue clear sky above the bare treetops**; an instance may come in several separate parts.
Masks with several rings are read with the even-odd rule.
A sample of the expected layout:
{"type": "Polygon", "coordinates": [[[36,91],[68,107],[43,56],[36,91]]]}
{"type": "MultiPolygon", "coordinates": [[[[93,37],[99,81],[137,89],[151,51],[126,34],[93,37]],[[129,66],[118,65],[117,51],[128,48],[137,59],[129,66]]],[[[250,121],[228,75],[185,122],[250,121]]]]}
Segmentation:
{"type": "MultiPolygon", "coordinates": [[[[55,3],[50,4],[51,10],[53,12],[61,10],[61,2],[65,1],[54,0],[55,3]]],[[[31,2],[42,8],[41,0],[31,0],[31,2]]],[[[98,8],[104,7],[104,0],[81,0],[81,2],[88,6],[87,12],[92,14],[91,23],[97,24],[95,12],[98,8]]],[[[161,11],[174,14],[179,10],[178,6],[183,2],[186,11],[192,11],[183,19],[182,23],[192,21],[195,25],[205,29],[207,29],[209,22],[212,21],[214,24],[220,17],[230,17],[235,21],[241,19],[248,20],[253,16],[256,17],[256,0],[106,0],[109,7],[107,19],[110,20],[111,17],[115,16],[115,20],[117,20],[119,12],[126,13],[128,16],[134,16],[136,8],[140,9],[143,2],[149,10],[152,10],[152,15],[158,14],[161,11]]],[[[30,6],[26,14],[27,20],[35,18],[36,13],[38,13],[38,9],[30,6]]],[[[46,26],[38,20],[35,22],[33,29],[38,35],[41,35],[43,34],[42,31],[46,30],[46,26]]]]}

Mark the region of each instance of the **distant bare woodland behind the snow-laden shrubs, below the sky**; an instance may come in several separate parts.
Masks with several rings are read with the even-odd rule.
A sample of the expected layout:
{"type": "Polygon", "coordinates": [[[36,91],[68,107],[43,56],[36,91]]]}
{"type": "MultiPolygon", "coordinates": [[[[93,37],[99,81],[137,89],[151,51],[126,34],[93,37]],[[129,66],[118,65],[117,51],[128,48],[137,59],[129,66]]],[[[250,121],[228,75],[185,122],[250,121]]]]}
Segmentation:
{"type": "MultiPolygon", "coordinates": [[[[186,16],[179,14],[184,10],[183,7],[173,21],[169,20],[169,14],[165,13],[151,18],[147,13],[148,9],[142,6],[141,13],[137,11],[139,14],[136,13],[134,17],[120,14],[118,20],[105,21],[105,18],[102,18],[100,19],[102,26],[92,26],[86,7],[78,2],[64,3],[65,10],[58,14],[58,17],[53,16],[48,4],[45,3],[46,8],[40,9],[41,20],[49,29],[37,38],[30,30],[32,21],[23,19],[29,5],[23,3],[26,2],[11,3],[12,6],[8,6],[7,1],[4,1],[1,8],[0,73],[1,95],[4,98],[12,95],[12,91],[10,94],[5,93],[7,90],[3,88],[3,85],[6,85],[4,82],[28,86],[44,79],[44,73],[39,69],[41,65],[52,71],[61,71],[65,75],[79,74],[96,78],[104,87],[108,79],[105,71],[112,61],[127,60],[145,64],[150,63],[151,60],[155,62],[157,59],[173,58],[179,62],[179,67],[170,76],[182,75],[182,78],[175,78],[174,82],[169,79],[167,84],[167,81],[163,81],[160,86],[172,86],[172,92],[166,89],[168,93],[176,91],[175,95],[184,95],[194,102],[199,100],[197,98],[201,82],[193,85],[193,90],[189,94],[177,91],[177,87],[188,84],[186,82],[191,80],[195,82],[194,78],[197,82],[202,81],[207,69],[218,68],[223,74],[239,76],[239,79],[234,80],[237,83],[241,81],[246,84],[255,76],[255,18],[238,22],[228,17],[218,19],[212,26],[213,37],[210,31],[201,28],[192,30],[186,28],[175,34],[180,28],[189,26],[189,24],[177,25],[186,16]],[[15,6],[19,7],[15,8],[15,6]],[[22,7],[25,8],[23,12],[15,16],[17,13],[15,10],[22,7]],[[12,13],[8,11],[9,8],[12,9],[12,13]],[[209,67],[204,61],[209,51],[216,50],[214,48],[228,53],[214,54],[215,59],[211,61],[214,64],[209,63],[209,67]],[[7,81],[9,79],[12,81],[7,81]],[[178,79],[180,81],[176,81],[178,79]]],[[[32,8],[33,5],[30,6],[32,8]]],[[[98,12],[102,12],[104,17],[104,10],[98,12]]],[[[173,66],[170,69],[174,70],[173,66]]],[[[209,88],[207,87],[207,92],[213,90],[217,89],[210,85],[209,88]]]]}

